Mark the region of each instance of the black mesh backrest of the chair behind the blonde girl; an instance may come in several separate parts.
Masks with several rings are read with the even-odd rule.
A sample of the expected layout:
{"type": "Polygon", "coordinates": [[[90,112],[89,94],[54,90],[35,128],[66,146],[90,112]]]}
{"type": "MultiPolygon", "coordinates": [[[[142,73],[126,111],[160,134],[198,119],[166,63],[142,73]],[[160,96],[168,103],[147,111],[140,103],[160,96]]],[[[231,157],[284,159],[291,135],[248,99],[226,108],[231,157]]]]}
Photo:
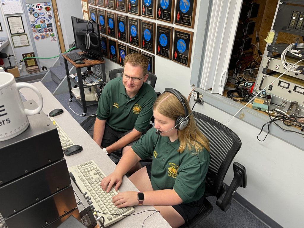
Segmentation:
{"type": "Polygon", "coordinates": [[[205,196],[223,193],[223,180],[226,172],[242,143],[228,127],[199,112],[194,112],[197,128],[210,143],[211,161],[206,175],[205,196]]]}

